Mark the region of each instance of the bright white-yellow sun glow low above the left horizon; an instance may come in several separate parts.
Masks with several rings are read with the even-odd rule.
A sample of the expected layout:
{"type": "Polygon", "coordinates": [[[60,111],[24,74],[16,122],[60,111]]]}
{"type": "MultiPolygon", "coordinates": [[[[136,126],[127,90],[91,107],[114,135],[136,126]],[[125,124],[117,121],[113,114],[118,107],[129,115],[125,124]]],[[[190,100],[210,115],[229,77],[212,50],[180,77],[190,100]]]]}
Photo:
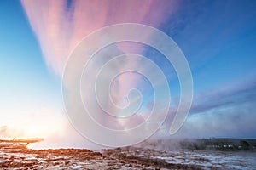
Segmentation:
{"type": "MultiPolygon", "coordinates": [[[[42,111],[44,113],[35,113],[26,116],[26,120],[22,117],[15,117],[15,122],[5,123],[1,127],[2,139],[30,139],[30,138],[43,138],[47,139],[50,136],[64,133],[63,129],[67,125],[65,116],[53,111],[42,111]]],[[[22,115],[24,116],[24,115],[22,115]]],[[[11,117],[9,117],[11,118],[11,117]]],[[[14,120],[14,117],[13,117],[14,120]]]]}

